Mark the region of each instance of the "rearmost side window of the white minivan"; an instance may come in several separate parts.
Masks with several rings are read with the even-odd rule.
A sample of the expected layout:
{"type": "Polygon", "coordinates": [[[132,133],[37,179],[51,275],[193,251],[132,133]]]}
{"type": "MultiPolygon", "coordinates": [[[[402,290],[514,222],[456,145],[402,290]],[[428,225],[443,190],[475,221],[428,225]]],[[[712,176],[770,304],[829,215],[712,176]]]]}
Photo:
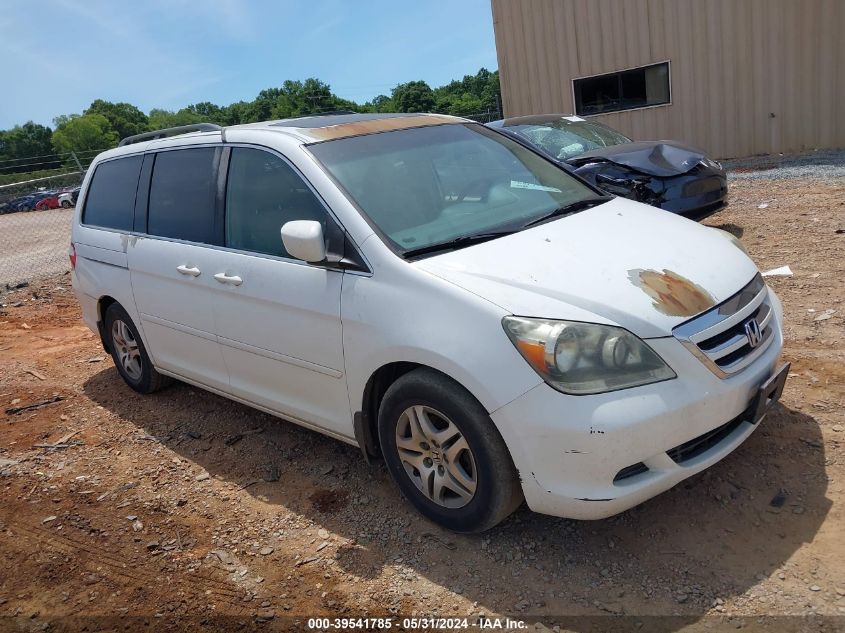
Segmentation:
{"type": "Polygon", "coordinates": [[[85,197],[83,224],[132,230],[142,160],[142,156],[128,156],[97,165],[85,197]]]}

